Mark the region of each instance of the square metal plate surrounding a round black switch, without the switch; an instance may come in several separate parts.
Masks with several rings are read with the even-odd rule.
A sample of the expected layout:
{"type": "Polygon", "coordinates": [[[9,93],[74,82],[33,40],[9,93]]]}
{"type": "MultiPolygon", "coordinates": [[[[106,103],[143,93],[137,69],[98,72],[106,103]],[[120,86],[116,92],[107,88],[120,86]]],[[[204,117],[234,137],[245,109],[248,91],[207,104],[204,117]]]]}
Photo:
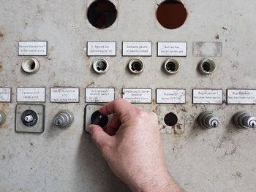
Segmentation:
{"type": "Polygon", "coordinates": [[[15,116],[15,131],[23,133],[40,134],[45,131],[45,106],[42,104],[17,104],[15,116]],[[32,110],[37,114],[37,123],[34,126],[26,126],[22,122],[23,112],[32,110]]]}

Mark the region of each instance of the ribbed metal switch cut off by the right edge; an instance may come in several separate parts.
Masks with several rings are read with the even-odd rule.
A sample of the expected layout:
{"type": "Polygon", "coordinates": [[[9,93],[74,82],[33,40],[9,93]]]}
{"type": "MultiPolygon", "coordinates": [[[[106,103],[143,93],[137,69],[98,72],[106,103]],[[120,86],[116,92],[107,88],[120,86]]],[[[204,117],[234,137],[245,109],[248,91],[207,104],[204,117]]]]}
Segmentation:
{"type": "Polygon", "coordinates": [[[237,128],[256,128],[256,117],[248,112],[237,112],[233,123],[237,128]]]}

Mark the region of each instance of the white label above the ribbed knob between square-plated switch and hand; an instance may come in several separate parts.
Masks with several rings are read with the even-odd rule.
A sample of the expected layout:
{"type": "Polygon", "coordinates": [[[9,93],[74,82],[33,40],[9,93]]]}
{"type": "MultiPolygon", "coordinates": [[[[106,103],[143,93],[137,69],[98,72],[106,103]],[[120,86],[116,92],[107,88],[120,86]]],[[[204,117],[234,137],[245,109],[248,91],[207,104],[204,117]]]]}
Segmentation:
{"type": "Polygon", "coordinates": [[[50,88],[50,102],[79,103],[79,88],[50,88]]]}

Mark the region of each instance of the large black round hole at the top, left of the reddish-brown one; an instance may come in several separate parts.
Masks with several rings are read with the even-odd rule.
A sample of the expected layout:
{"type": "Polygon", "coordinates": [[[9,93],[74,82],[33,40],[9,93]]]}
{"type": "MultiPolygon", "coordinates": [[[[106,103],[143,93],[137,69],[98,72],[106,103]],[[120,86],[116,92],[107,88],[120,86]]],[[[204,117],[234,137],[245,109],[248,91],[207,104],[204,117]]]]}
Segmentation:
{"type": "Polygon", "coordinates": [[[96,28],[108,28],[115,23],[117,17],[116,6],[106,0],[97,0],[90,4],[87,18],[96,28]]]}

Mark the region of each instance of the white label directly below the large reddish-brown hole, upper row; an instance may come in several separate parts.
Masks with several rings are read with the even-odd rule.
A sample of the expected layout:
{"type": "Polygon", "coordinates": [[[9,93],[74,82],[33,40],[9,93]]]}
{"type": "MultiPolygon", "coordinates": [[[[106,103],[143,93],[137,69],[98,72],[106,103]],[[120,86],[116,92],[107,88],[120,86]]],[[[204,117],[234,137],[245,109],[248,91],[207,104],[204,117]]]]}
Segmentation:
{"type": "Polygon", "coordinates": [[[158,42],[157,56],[187,56],[187,42],[158,42]]]}

